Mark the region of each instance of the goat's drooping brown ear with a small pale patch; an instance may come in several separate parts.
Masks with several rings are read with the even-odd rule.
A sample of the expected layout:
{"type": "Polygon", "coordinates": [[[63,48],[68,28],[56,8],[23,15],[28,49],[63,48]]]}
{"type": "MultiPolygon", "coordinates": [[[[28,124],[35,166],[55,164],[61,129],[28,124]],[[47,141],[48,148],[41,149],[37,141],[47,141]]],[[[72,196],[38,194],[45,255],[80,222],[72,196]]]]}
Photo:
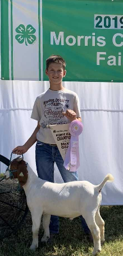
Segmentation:
{"type": "Polygon", "coordinates": [[[21,160],[21,162],[19,162],[19,168],[17,171],[17,179],[19,180],[21,187],[26,184],[26,181],[28,179],[28,170],[26,168],[26,163],[24,160],[21,160]]]}

